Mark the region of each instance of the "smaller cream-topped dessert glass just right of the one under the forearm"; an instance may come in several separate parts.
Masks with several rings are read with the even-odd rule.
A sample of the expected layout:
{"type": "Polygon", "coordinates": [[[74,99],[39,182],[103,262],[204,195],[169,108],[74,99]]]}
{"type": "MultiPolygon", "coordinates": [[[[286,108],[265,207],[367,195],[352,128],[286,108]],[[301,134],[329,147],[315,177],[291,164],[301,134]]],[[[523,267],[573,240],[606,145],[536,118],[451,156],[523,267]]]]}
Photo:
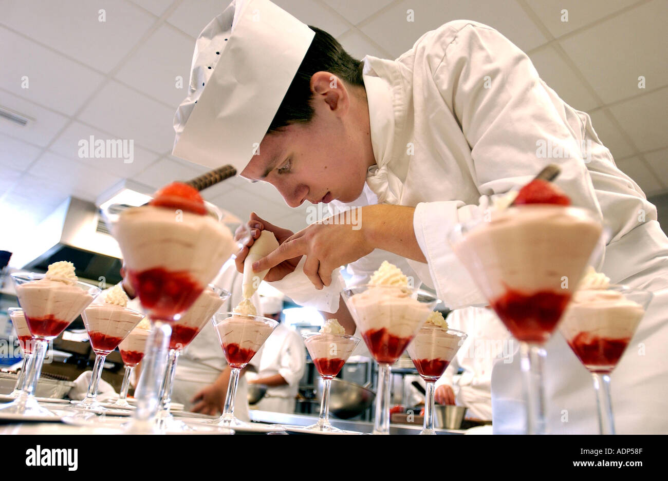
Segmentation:
{"type": "Polygon", "coordinates": [[[408,345],[415,369],[427,386],[424,403],[424,428],[420,434],[436,434],[434,431],[434,392],[436,381],[446,372],[450,361],[466,340],[466,333],[448,328],[443,314],[432,312],[415,338],[408,345]]]}

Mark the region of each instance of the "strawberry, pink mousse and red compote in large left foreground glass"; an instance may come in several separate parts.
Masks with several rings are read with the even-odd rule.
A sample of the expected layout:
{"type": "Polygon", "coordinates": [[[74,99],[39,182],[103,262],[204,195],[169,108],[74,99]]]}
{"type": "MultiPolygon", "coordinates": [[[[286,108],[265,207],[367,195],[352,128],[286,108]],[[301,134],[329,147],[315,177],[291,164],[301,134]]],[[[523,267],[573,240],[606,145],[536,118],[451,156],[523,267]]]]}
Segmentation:
{"type": "Polygon", "coordinates": [[[123,211],[112,230],[142,306],[164,321],[192,306],[235,248],[198,191],[178,182],[123,211]]]}

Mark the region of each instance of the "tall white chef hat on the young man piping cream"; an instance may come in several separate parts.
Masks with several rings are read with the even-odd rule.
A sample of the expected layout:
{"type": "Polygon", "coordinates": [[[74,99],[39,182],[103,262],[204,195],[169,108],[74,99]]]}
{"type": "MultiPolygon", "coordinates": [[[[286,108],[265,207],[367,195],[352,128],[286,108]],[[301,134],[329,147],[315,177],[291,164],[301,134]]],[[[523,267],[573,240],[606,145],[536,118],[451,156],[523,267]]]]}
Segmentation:
{"type": "Polygon", "coordinates": [[[315,33],[269,0],[234,0],[198,37],[177,157],[240,172],[257,151],[315,33]]]}

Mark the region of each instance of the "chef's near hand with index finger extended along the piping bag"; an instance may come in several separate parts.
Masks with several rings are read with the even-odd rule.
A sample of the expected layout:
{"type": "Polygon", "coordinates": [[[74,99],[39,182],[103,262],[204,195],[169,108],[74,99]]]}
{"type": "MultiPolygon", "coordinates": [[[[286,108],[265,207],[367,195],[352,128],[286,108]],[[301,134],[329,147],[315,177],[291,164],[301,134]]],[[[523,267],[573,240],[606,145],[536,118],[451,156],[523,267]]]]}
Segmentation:
{"type": "Polygon", "coordinates": [[[277,250],[255,262],[253,271],[275,268],[306,256],[304,274],[313,286],[318,290],[329,286],[333,270],[373,251],[361,225],[353,228],[350,215],[349,211],[338,213],[291,235],[277,250]]]}

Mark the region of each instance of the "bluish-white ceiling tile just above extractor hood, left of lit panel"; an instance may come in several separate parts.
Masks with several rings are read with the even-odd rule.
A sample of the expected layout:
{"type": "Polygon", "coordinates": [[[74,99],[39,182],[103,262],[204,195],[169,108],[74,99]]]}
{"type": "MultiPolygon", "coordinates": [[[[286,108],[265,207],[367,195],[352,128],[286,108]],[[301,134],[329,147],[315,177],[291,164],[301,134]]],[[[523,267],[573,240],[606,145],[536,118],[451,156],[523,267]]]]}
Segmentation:
{"type": "Polygon", "coordinates": [[[57,185],[57,189],[65,189],[71,195],[90,201],[94,201],[100,193],[121,179],[51,152],[39,157],[30,167],[29,173],[49,181],[49,188],[57,185]]]}

